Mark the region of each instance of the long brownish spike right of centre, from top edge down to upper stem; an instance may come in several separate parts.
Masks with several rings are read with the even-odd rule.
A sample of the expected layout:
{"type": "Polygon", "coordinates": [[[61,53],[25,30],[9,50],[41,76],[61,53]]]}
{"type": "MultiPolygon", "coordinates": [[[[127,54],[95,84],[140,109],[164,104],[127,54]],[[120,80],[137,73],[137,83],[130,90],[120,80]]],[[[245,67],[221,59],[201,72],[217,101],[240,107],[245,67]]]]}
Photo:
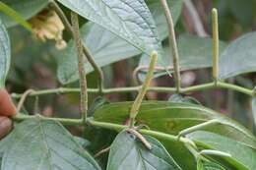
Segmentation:
{"type": "Polygon", "coordinates": [[[174,25],[171,13],[168,8],[168,4],[166,0],[160,0],[161,6],[164,10],[166,22],[168,25],[168,31],[169,31],[169,44],[172,49],[172,56],[173,56],[173,68],[174,68],[174,78],[175,78],[175,85],[176,85],[176,92],[180,92],[181,88],[181,80],[180,80],[180,69],[179,69],[179,55],[178,55],[178,48],[177,48],[177,42],[176,42],[176,36],[174,31],[174,25]]]}

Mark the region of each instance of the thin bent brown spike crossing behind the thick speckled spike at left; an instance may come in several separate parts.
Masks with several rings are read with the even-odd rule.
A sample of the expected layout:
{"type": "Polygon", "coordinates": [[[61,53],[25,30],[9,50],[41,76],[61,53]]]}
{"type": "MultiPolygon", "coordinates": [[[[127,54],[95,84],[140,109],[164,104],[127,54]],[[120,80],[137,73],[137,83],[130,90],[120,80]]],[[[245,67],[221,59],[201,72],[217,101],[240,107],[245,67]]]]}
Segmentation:
{"type": "MultiPolygon", "coordinates": [[[[51,0],[49,6],[58,14],[58,16],[60,17],[61,21],[63,22],[63,25],[65,26],[65,28],[68,30],[68,32],[70,34],[73,34],[73,28],[71,26],[71,24],[69,23],[66,15],[63,13],[63,11],[61,10],[61,8],[58,6],[58,4],[54,1],[51,0]]],[[[99,91],[102,91],[104,88],[104,76],[103,76],[103,72],[100,69],[100,67],[97,66],[96,61],[94,59],[94,56],[92,55],[92,53],[90,52],[89,48],[86,46],[86,44],[83,43],[83,51],[89,61],[89,63],[93,66],[94,70],[97,73],[98,76],[98,87],[99,87],[99,91]]]]}

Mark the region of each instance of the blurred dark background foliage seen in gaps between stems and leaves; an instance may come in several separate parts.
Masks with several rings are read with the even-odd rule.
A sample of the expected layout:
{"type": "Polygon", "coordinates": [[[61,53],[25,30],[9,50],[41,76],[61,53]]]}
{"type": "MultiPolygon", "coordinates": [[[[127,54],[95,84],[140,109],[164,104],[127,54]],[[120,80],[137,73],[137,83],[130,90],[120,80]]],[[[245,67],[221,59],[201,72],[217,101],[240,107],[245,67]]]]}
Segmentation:
{"type": "MultiPolygon", "coordinates": [[[[211,10],[216,7],[219,10],[220,38],[224,42],[230,42],[238,36],[256,29],[256,0],[194,0],[192,7],[199,15],[200,25],[203,26],[203,35],[196,30],[197,23],[191,19],[191,11],[186,5],[182,6],[182,12],[176,24],[177,36],[187,33],[198,36],[210,36],[211,10]]],[[[64,11],[68,11],[62,7],[64,11]]],[[[68,13],[67,13],[68,15],[68,13]]],[[[81,25],[87,23],[81,19],[81,25]]],[[[8,79],[8,89],[11,92],[22,93],[28,88],[45,89],[61,86],[57,80],[57,61],[61,56],[56,55],[53,40],[41,41],[36,39],[31,32],[21,26],[8,28],[12,44],[12,67],[8,79]]],[[[201,32],[202,33],[202,32],[201,32]]],[[[66,31],[63,35],[68,41],[70,36],[66,31]]],[[[163,42],[167,43],[167,42],[163,42]]],[[[182,56],[180,56],[182,57],[182,56]]],[[[103,67],[105,75],[105,87],[131,86],[133,70],[138,66],[140,56],[122,60],[103,67]]],[[[182,85],[198,85],[211,81],[211,69],[182,72],[182,85]]],[[[88,75],[90,87],[96,87],[96,74],[88,75]]],[[[256,75],[246,74],[231,78],[228,82],[253,88],[256,75]]],[[[72,86],[77,87],[78,83],[72,86]]],[[[173,81],[167,77],[160,77],[153,82],[153,85],[171,86],[173,81]]],[[[171,93],[150,92],[149,99],[167,100],[171,93]]],[[[228,90],[207,90],[189,94],[197,98],[203,105],[218,110],[241,122],[250,130],[253,130],[253,119],[251,114],[251,98],[243,94],[228,90]]],[[[135,94],[107,94],[110,101],[134,100],[135,94]]],[[[95,100],[96,95],[90,95],[90,104],[95,100]]],[[[28,113],[40,112],[45,116],[79,117],[79,94],[46,95],[39,99],[30,97],[26,102],[28,113]],[[37,104],[36,104],[37,103],[37,104]],[[38,107],[34,109],[34,105],[38,107]]],[[[77,134],[79,131],[74,130],[77,134]]],[[[90,133],[89,133],[90,134],[90,133]]],[[[100,140],[99,140],[100,141],[100,140]]],[[[107,144],[105,144],[107,145],[107,144]]]]}

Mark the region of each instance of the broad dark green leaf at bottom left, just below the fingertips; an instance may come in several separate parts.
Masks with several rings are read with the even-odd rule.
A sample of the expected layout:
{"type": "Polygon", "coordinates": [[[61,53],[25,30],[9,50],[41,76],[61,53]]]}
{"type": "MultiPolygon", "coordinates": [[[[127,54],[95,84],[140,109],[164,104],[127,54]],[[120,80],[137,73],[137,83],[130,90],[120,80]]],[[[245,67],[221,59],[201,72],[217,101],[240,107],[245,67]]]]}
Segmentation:
{"type": "Polygon", "coordinates": [[[57,122],[27,120],[11,134],[2,170],[99,170],[94,158],[57,122]]]}

